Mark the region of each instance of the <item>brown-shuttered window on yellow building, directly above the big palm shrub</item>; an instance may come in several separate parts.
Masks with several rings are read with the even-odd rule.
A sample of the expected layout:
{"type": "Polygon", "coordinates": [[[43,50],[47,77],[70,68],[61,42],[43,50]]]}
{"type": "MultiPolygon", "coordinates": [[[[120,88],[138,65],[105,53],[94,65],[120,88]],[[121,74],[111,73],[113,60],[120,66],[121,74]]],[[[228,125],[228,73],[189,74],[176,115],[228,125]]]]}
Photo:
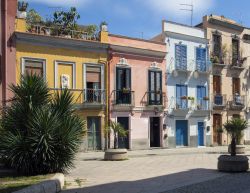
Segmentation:
{"type": "Polygon", "coordinates": [[[45,61],[42,59],[29,59],[24,58],[22,64],[22,73],[33,74],[44,77],[45,75],[45,61]]]}

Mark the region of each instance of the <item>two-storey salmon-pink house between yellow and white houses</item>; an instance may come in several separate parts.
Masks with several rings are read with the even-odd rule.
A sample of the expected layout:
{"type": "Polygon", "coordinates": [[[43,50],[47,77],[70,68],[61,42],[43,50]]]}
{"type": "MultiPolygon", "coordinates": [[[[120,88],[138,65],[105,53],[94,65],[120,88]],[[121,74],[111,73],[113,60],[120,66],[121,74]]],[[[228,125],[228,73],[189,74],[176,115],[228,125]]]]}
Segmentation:
{"type": "Polygon", "coordinates": [[[112,34],[109,43],[109,116],[129,131],[119,147],[164,147],[166,44],[112,34]]]}

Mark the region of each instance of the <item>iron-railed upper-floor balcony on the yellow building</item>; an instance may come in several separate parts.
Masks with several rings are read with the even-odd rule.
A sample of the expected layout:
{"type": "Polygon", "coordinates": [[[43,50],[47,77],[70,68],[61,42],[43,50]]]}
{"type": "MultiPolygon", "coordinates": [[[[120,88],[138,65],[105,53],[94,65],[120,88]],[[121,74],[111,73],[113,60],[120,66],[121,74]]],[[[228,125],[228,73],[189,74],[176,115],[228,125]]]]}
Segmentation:
{"type": "MultiPolygon", "coordinates": [[[[80,108],[103,108],[105,90],[103,89],[68,89],[73,96],[73,103],[80,108]]],[[[51,88],[52,96],[62,92],[61,88],[51,88]]]]}

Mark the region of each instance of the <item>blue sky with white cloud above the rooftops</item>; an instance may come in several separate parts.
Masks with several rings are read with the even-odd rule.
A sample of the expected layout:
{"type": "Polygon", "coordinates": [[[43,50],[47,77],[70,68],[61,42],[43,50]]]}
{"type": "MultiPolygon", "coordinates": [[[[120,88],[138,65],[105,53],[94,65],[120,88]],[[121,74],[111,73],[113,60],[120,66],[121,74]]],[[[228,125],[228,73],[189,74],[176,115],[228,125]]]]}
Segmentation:
{"type": "Polygon", "coordinates": [[[250,27],[249,0],[26,0],[44,18],[53,12],[76,7],[81,18],[79,24],[108,23],[109,32],[125,36],[150,39],[161,33],[163,19],[190,25],[193,4],[193,24],[202,16],[216,14],[234,19],[250,27]]]}

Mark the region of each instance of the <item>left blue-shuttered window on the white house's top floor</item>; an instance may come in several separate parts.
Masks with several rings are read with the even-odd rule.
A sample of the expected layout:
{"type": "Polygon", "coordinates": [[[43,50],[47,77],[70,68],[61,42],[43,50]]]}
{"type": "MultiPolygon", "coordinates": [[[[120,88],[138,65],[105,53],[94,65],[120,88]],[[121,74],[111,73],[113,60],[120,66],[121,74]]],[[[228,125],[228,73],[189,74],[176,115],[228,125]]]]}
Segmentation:
{"type": "Polygon", "coordinates": [[[175,67],[179,70],[187,70],[187,47],[175,45],[175,67]]]}

